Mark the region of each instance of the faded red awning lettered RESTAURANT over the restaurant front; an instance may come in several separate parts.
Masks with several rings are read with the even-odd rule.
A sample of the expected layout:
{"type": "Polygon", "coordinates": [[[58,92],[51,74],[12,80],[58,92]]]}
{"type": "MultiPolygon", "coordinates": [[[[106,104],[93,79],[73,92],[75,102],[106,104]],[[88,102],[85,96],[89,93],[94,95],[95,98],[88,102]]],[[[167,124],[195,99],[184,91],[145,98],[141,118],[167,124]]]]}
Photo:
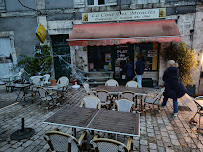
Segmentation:
{"type": "Polygon", "coordinates": [[[180,42],[174,20],[74,25],[70,46],[106,46],[127,43],[180,42]]]}

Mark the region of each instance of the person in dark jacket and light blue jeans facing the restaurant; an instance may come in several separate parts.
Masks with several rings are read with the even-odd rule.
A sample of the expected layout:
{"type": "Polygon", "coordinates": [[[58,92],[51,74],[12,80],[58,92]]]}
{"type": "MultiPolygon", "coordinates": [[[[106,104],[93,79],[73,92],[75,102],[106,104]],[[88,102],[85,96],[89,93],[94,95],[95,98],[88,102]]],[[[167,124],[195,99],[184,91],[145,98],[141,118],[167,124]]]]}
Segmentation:
{"type": "Polygon", "coordinates": [[[142,75],[144,73],[145,69],[145,63],[143,61],[142,54],[137,55],[137,62],[136,62],[136,74],[137,74],[137,83],[139,84],[139,87],[142,88],[142,75]]]}

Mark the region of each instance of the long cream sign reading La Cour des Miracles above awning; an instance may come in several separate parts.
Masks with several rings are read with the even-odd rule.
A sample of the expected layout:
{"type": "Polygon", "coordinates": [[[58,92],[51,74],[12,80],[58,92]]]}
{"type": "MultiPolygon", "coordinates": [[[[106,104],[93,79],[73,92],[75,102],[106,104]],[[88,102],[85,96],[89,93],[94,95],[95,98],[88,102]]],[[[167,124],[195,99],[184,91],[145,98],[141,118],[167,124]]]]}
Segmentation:
{"type": "Polygon", "coordinates": [[[166,8],[82,13],[82,22],[105,22],[165,18],[166,8]]]}

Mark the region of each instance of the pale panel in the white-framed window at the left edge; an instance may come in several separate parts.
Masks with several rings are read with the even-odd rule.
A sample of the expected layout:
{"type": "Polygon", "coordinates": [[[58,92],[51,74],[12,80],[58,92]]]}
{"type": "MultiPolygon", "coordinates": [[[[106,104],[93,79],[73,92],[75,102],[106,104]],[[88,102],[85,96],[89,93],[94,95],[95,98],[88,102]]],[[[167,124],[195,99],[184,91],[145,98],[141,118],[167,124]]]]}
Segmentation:
{"type": "Polygon", "coordinates": [[[12,54],[9,38],[0,38],[0,57],[9,57],[12,54]]]}

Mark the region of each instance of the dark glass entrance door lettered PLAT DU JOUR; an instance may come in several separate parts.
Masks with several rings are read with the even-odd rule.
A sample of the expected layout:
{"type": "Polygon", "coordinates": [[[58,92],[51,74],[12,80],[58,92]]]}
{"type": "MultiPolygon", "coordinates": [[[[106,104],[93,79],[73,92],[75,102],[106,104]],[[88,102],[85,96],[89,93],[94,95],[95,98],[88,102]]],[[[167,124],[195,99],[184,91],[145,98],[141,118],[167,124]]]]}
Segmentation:
{"type": "Polygon", "coordinates": [[[126,72],[123,70],[127,57],[130,57],[130,60],[134,65],[133,47],[134,45],[132,44],[118,45],[116,46],[116,50],[114,51],[114,79],[116,79],[121,85],[125,85],[127,83],[127,79],[125,77],[126,72]]]}

